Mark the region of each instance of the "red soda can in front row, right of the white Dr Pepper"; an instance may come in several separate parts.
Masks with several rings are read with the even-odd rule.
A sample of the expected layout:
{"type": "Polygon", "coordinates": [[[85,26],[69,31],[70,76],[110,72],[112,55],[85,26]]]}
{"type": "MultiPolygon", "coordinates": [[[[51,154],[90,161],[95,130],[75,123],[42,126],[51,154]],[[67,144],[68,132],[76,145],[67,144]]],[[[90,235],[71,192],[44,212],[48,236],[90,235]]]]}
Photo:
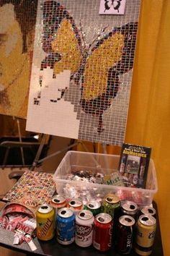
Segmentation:
{"type": "Polygon", "coordinates": [[[100,252],[112,246],[112,216],[107,213],[99,213],[94,218],[93,246],[100,252]]]}

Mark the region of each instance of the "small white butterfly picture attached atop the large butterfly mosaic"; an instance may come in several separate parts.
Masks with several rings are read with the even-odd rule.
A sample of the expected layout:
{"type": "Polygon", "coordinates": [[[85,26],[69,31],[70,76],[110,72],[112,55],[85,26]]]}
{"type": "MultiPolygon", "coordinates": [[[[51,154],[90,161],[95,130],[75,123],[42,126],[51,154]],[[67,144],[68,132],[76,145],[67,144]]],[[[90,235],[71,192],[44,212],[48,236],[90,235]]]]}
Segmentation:
{"type": "Polygon", "coordinates": [[[100,0],[99,14],[118,14],[125,13],[126,0],[100,0]]]}

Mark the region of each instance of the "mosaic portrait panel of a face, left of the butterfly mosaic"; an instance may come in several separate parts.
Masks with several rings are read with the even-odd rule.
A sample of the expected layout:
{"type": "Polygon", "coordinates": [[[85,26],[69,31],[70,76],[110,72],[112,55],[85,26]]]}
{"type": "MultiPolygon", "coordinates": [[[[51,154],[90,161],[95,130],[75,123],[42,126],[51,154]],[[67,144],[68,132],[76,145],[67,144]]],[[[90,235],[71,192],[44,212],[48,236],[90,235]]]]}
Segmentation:
{"type": "Polygon", "coordinates": [[[27,116],[37,0],[0,0],[0,114],[27,116]]]}

